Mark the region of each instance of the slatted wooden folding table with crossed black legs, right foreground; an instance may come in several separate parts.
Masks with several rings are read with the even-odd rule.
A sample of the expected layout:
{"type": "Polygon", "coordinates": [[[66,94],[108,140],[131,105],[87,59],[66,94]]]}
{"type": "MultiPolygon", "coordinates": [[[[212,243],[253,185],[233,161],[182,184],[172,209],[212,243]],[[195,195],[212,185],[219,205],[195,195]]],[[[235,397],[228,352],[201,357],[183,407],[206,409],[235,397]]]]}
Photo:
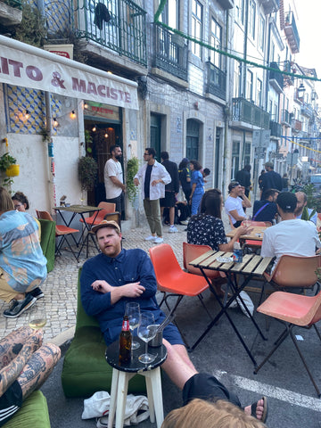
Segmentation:
{"type": "Polygon", "coordinates": [[[245,341],[243,340],[242,334],[238,331],[237,326],[235,325],[235,322],[233,321],[232,317],[230,317],[227,309],[236,300],[236,298],[238,298],[241,302],[240,304],[242,304],[244,309],[247,311],[249,317],[251,318],[251,322],[253,323],[253,325],[255,325],[258,333],[260,334],[263,340],[266,340],[266,337],[259,329],[259,325],[255,321],[254,317],[251,316],[251,312],[249,311],[249,309],[246,307],[246,304],[244,303],[240,292],[242,292],[246,285],[249,284],[251,279],[263,278],[263,274],[267,270],[270,263],[272,263],[272,260],[272,257],[263,258],[254,254],[246,254],[243,256],[242,263],[236,263],[235,261],[233,261],[232,252],[210,250],[202,254],[202,256],[198,257],[197,259],[193,259],[189,263],[195,268],[200,268],[202,275],[209,284],[210,291],[213,292],[216,299],[218,300],[218,304],[221,307],[217,316],[210,321],[210,324],[206,327],[204,333],[202,333],[202,335],[193,344],[191,350],[194,350],[196,348],[196,346],[202,341],[205,335],[210,332],[210,329],[213,327],[213,325],[216,325],[218,323],[218,319],[225,314],[228,321],[232,325],[237,337],[242,343],[243,348],[246,350],[248,356],[251,358],[252,363],[254,364],[254,366],[257,366],[257,362],[253,357],[251,350],[248,348],[245,341]],[[224,261],[220,261],[222,260],[221,258],[224,258],[224,261]],[[226,302],[222,302],[219,299],[218,293],[212,286],[208,276],[206,276],[206,272],[204,271],[204,269],[218,270],[226,274],[228,284],[228,289],[226,290],[226,293],[231,292],[232,294],[226,300],[226,302]]]}

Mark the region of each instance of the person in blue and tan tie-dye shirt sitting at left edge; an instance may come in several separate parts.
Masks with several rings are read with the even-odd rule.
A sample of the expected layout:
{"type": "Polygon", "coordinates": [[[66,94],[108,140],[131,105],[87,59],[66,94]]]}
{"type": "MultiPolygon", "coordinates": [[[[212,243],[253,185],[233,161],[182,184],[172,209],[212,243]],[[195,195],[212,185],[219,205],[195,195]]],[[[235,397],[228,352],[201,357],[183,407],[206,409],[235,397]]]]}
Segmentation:
{"type": "Polygon", "coordinates": [[[13,210],[10,194],[0,187],[0,299],[11,302],[4,317],[19,317],[44,294],[46,262],[38,226],[27,212],[13,210]]]}

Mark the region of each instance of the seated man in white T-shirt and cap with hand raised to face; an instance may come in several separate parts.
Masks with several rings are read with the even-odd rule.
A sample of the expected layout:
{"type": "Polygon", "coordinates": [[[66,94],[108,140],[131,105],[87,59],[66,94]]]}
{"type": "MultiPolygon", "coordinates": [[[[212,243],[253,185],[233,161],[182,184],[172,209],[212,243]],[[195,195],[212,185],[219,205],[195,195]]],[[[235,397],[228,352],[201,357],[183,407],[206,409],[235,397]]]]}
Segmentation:
{"type": "Polygon", "coordinates": [[[251,208],[251,202],[245,196],[245,188],[238,181],[232,181],[228,185],[228,193],[229,196],[224,204],[226,214],[233,226],[239,227],[246,218],[243,208],[251,208]]]}

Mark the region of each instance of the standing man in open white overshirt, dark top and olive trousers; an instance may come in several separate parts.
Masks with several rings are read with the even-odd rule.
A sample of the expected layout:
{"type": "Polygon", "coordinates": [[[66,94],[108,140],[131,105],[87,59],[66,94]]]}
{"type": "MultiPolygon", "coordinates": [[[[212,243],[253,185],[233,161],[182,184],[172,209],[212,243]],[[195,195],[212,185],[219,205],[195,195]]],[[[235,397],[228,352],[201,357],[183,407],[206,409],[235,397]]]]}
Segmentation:
{"type": "Polygon", "coordinates": [[[165,197],[165,185],[171,182],[171,178],[167,169],[155,160],[155,154],[152,147],[144,150],[147,163],[137,172],[134,184],[142,184],[144,211],[152,234],[145,240],[162,243],[160,199],[165,197]]]}

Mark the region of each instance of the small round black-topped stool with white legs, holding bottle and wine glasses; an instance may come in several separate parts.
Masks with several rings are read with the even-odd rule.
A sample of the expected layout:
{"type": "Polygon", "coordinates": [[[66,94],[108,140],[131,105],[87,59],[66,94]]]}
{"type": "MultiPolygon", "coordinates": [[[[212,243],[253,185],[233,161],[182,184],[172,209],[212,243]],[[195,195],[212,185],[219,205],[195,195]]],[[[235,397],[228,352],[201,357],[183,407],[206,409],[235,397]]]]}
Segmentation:
{"type": "Polygon", "coordinates": [[[108,364],[112,366],[108,428],[112,428],[115,414],[115,427],[123,427],[128,382],[136,374],[141,374],[145,378],[151,422],[155,422],[156,416],[157,428],[161,428],[164,420],[160,366],[167,358],[166,347],[163,344],[156,348],[149,346],[148,353],[156,355],[156,358],[152,363],[144,364],[138,360],[138,357],[144,353],[144,342],[139,337],[136,337],[135,340],[139,342],[140,347],[132,350],[131,360],[128,364],[119,364],[119,341],[112,342],[105,353],[108,364]]]}

